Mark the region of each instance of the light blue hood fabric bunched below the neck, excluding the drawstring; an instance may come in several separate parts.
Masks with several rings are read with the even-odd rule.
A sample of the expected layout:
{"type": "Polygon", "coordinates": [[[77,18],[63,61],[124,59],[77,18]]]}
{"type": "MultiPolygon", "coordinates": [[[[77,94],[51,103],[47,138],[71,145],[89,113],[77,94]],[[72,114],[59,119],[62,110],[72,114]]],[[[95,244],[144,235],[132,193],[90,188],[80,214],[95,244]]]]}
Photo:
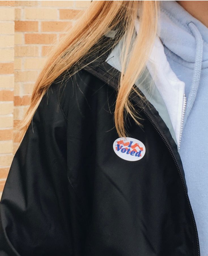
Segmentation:
{"type": "Polygon", "coordinates": [[[162,43],[176,54],[186,65],[194,68],[196,57],[196,37],[189,23],[197,27],[203,42],[202,68],[208,67],[208,28],[194,18],[176,1],[160,1],[161,15],[158,22],[158,35],[162,43]]]}

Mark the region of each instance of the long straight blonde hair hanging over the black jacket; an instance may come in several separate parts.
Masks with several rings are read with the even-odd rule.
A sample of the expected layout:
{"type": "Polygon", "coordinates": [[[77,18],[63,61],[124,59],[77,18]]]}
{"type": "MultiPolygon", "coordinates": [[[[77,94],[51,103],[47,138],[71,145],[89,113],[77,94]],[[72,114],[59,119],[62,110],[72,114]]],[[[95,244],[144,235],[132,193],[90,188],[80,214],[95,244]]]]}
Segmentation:
{"type": "Polygon", "coordinates": [[[104,34],[114,30],[118,24],[121,24],[122,31],[114,45],[118,43],[121,36],[124,36],[125,49],[123,48],[121,53],[122,70],[114,112],[115,127],[119,137],[126,136],[124,110],[139,125],[138,116],[131,105],[129,95],[133,90],[133,84],[146,66],[153,46],[157,30],[158,9],[157,1],[92,1],[67,36],[51,53],[41,71],[25,117],[16,125],[15,134],[18,134],[19,139],[23,138],[43,95],[52,82],[89,53],[96,42],[104,34]],[[134,22],[138,13],[139,34],[131,45],[135,33],[134,22]]]}

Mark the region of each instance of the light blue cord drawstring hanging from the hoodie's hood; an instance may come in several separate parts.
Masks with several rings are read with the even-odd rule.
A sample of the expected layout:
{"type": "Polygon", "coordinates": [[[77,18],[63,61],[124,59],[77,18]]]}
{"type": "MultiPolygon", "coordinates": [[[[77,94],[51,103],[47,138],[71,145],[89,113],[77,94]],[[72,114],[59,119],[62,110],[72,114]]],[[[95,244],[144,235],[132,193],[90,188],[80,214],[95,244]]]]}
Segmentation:
{"type": "Polygon", "coordinates": [[[192,79],[191,90],[188,95],[188,100],[186,103],[186,110],[184,114],[184,123],[183,127],[186,123],[187,117],[190,114],[192,106],[194,104],[194,100],[196,98],[197,90],[199,87],[199,80],[201,75],[201,65],[202,65],[202,56],[203,56],[203,40],[198,28],[195,26],[193,22],[188,23],[188,27],[192,31],[195,39],[196,39],[196,55],[195,55],[195,63],[194,63],[194,73],[192,79]]]}

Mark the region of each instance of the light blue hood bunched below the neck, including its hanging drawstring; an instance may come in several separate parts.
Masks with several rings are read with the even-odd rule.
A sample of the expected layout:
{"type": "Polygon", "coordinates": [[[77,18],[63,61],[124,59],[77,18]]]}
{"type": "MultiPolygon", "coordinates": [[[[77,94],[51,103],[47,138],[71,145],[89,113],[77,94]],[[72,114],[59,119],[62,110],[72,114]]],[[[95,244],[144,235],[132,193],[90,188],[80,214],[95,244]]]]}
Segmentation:
{"type": "Polygon", "coordinates": [[[208,28],[190,15],[176,1],[160,1],[161,16],[158,34],[164,47],[174,58],[181,58],[183,65],[193,69],[183,123],[193,107],[201,77],[201,69],[208,66],[208,28]]]}

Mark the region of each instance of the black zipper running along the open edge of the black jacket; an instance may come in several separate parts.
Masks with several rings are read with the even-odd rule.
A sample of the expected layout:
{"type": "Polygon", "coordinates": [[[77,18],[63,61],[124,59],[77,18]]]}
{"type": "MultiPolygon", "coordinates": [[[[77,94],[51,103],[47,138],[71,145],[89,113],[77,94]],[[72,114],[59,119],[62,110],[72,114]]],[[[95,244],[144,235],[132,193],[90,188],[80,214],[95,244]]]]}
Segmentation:
{"type": "MultiPolygon", "coordinates": [[[[114,90],[117,90],[116,86],[113,86],[112,84],[109,84],[108,82],[105,81],[105,79],[102,78],[102,75],[99,76],[97,75],[95,72],[93,72],[92,70],[89,70],[87,67],[82,67],[84,70],[86,70],[88,73],[91,73],[92,75],[94,75],[95,77],[99,78],[100,80],[102,80],[103,82],[105,82],[106,84],[108,84],[110,87],[112,87],[114,90]]],[[[131,98],[131,97],[130,97],[131,98]]],[[[195,219],[194,219],[194,214],[193,214],[193,211],[192,211],[192,208],[191,208],[191,204],[190,204],[190,201],[189,201],[189,198],[188,198],[188,193],[187,193],[187,190],[186,190],[186,186],[185,186],[185,181],[184,181],[184,178],[182,176],[182,173],[181,173],[181,170],[178,166],[178,163],[177,163],[177,160],[175,159],[175,156],[173,155],[173,152],[171,150],[171,148],[169,147],[169,145],[167,144],[167,142],[165,141],[164,137],[162,136],[162,134],[160,133],[160,131],[158,130],[158,128],[156,127],[156,125],[154,124],[154,122],[152,121],[152,119],[148,116],[148,114],[145,112],[145,110],[137,103],[136,100],[132,99],[137,106],[141,109],[141,111],[146,115],[146,117],[148,118],[148,120],[150,121],[150,123],[153,125],[153,127],[156,129],[157,133],[160,135],[161,139],[164,141],[167,149],[169,150],[173,160],[174,160],[174,163],[177,167],[177,170],[179,172],[179,176],[181,178],[181,181],[182,181],[182,185],[183,185],[183,189],[184,189],[184,193],[185,193],[185,196],[186,196],[186,201],[188,203],[188,207],[189,207],[189,210],[191,212],[191,217],[192,217],[192,221],[193,221],[193,226],[194,226],[194,232],[195,232],[195,236],[196,236],[196,242],[197,242],[197,256],[200,256],[200,249],[199,249],[199,238],[198,238],[198,232],[197,232],[197,228],[196,228],[196,222],[195,222],[195,219]]],[[[185,108],[185,107],[184,107],[185,108]]]]}

